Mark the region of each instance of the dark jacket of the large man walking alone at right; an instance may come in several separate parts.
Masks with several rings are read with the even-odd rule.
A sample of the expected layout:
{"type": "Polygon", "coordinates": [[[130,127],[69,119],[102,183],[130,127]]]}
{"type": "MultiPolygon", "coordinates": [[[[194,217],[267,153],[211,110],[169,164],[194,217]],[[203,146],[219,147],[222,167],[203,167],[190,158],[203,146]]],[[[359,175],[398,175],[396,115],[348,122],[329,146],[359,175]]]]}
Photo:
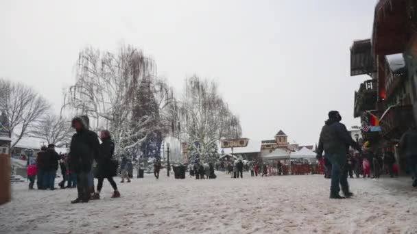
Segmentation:
{"type": "Polygon", "coordinates": [[[360,151],[359,144],[352,139],[344,124],[335,120],[326,120],[320,133],[318,155],[322,155],[324,151],[326,155],[346,156],[349,146],[360,151]]]}

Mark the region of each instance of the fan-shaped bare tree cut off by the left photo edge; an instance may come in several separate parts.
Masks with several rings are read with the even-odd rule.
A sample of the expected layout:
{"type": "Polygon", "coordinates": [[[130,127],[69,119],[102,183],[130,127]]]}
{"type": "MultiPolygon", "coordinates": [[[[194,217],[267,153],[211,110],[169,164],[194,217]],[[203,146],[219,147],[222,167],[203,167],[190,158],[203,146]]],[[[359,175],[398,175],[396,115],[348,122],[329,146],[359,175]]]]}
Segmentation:
{"type": "Polygon", "coordinates": [[[50,105],[34,89],[22,83],[12,83],[0,79],[0,109],[5,112],[8,118],[8,125],[5,126],[14,146],[21,140],[36,121],[45,114],[50,105]]]}

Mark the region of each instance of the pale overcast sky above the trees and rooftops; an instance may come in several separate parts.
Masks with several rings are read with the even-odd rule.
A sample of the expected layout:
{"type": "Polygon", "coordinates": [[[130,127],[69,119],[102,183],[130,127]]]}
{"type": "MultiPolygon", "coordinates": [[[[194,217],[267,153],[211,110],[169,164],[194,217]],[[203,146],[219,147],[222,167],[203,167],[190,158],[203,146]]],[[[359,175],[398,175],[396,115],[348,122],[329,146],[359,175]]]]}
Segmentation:
{"type": "Polygon", "coordinates": [[[0,77],[41,92],[58,112],[87,45],[143,49],[180,90],[194,73],[219,81],[243,136],[315,144],[327,112],[346,126],[349,48],[370,38],[376,0],[0,1],[0,77]]]}

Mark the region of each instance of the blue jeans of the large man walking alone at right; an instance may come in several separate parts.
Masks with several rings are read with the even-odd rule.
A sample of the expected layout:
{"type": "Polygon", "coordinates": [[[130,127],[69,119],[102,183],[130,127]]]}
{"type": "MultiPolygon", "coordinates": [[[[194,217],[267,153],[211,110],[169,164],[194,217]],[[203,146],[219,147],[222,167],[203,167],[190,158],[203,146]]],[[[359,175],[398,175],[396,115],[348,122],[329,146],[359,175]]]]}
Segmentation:
{"type": "Polygon", "coordinates": [[[348,173],[344,170],[346,164],[346,155],[344,154],[329,154],[324,155],[331,163],[331,186],[330,195],[337,196],[340,192],[339,183],[342,186],[342,191],[346,195],[349,192],[348,173]]]}

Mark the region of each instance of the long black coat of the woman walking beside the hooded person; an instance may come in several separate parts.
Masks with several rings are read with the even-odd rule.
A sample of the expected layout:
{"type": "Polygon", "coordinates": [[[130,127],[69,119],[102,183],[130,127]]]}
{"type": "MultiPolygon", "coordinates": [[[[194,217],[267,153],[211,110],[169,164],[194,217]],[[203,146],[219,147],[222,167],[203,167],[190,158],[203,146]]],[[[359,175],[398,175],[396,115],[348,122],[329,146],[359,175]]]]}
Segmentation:
{"type": "Polygon", "coordinates": [[[113,160],[115,153],[115,143],[112,138],[102,139],[99,147],[99,157],[97,159],[97,170],[94,176],[96,178],[115,177],[117,174],[117,161],[113,160]]]}

